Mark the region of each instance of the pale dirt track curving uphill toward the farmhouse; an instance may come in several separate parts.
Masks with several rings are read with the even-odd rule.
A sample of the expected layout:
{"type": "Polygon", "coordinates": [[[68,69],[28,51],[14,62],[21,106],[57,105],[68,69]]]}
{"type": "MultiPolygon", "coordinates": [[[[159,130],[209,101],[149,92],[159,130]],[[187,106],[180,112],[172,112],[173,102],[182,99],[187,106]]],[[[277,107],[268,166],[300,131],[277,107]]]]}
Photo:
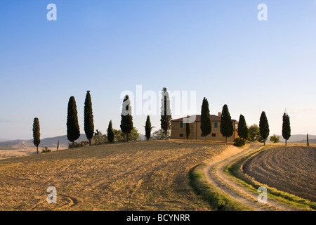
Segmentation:
{"type": "Polygon", "coordinates": [[[261,145],[251,144],[248,148],[240,150],[237,147],[230,147],[225,150],[225,154],[221,154],[218,158],[214,158],[209,164],[205,167],[204,173],[208,181],[216,188],[220,189],[232,199],[236,200],[242,205],[246,205],[256,211],[270,211],[270,210],[282,210],[282,211],[292,211],[294,208],[287,207],[281,203],[277,203],[275,200],[268,199],[268,203],[258,203],[258,194],[246,190],[239,184],[236,184],[235,181],[230,179],[224,172],[226,165],[231,162],[242,158],[244,155],[248,154],[253,150],[258,150],[261,148],[261,145]]]}

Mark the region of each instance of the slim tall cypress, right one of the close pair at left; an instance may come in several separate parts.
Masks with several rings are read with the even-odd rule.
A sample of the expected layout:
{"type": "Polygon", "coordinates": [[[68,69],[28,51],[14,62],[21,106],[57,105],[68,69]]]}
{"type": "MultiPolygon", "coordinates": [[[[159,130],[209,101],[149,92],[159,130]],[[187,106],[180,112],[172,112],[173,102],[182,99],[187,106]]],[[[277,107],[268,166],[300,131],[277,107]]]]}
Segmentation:
{"type": "Polygon", "coordinates": [[[90,91],[86,91],[86,100],[84,101],[84,132],[86,133],[86,138],[91,146],[91,139],[94,134],[94,124],[90,91]]]}

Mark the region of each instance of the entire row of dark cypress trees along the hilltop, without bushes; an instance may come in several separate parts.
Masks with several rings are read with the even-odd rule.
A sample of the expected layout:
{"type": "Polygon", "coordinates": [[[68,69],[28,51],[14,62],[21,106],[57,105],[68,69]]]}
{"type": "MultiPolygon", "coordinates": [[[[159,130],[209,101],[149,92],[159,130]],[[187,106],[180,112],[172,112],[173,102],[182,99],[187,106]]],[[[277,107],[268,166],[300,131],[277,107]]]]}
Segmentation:
{"type": "MultiPolygon", "coordinates": [[[[227,142],[227,138],[232,136],[234,128],[232,125],[232,120],[230,117],[230,113],[228,110],[228,105],[223,106],[223,110],[220,116],[220,133],[225,136],[225,142],[227,142]]],[[[170,101],[169,94],[166,90],[166,87],[162,89],[162,110],[161,110],[161,128],[165,133],[167,139],[167,133],[170,129],[170,121],[171,121],[171,110],[170,110],[170,101]]],[[[209,102],[204,97],[202,101],[202,109],[201,109],[201,130],[202,134],[205,136],[205,141],[207,135],[211,134],[211,115],[209,111],[209,102]]],[[[121,131],[126,134],[126,141],[129,141],[129,133],[131,133],[133,129],[133,117],[131,115],[131,102],[129,100],[129,96],[126,95],[123,100],[123,107],[121,113],[121,131]]],[[[265,115],[265,112],[261,113],[260,117],[260,133],[264,140],[264,144],[266,139],[269,136],[269,124],[268,119],[265,115]]],[[[147,120],[145,123],[145,136],[146,139],[150,139],[150,132],[152,130],[150,116],[147,115],[147,120]]],[[[186,136],[187,139],[190,137],[190,125],[186,123],[186,136]]],[[[92,111],[92,102],[90,91],[86,93],[86,99],[84,102],[84,131],[86,133],[86,137],[88,139],[89,145],[91,145],[91,139],[93,138],[94,132],[94,124],[93,124],[93,111],[92,111]]],[[[74,145],[74,141],[79,139],[80,136],[80,128],[78,123],[78,112],[77,112],[77,104],[74,96],[70,97],[68,102],[68,112],[67,112],[67,139],[72,142],[74,145]]],[[[246,120],[243,115],[239,116],[239,125],[238,125],[238,136],[244,140],[248,138],[248,128],[246,126],[246,120]]],[[[287,140],[291,136],[291,127],[289,122],[289,115],[284,113],[283,115],[283,124],[282,124],[282,136],[287,140]]],[[[110,143],[114,141],[114,131],[112,128],[112,120],[109,122],[109,126],[107,128],[107,139],[110,143]]],[[[40,132],[39,132],[39,119],[34,118],[33,122],[33,140],[34,146],[37,146],[37,153],[39,153],[38,147],[40,141],[40,132]]]]}

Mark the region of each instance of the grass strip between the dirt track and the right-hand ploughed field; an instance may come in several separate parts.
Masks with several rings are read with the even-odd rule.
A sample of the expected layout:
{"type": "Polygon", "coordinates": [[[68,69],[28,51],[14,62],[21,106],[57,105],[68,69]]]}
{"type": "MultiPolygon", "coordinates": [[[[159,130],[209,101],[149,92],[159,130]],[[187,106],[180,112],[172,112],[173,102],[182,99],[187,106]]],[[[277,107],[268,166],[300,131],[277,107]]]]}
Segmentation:
{"type": "Polygon", "coordinates": [[[268,188],[268,198],[277,200],[281,203],[284,203],[285,205],[288,205],[289,207],[296,207],[299,210],[316,210],[316,203],[310,202],[310,200],[300,198],[296,195],[292,195],[284,191],[279,191],[276,188],[271,188],[266,184],[261,184],[260,182],[251,179],[250,176],[244,174],[244,172],[242,171],[242,165],[244,165],[246,160],[249,160],[256,154],[267,148],[269,147],[265,146],[263,148],[259,148],[258,150],[251,151],[244,157],[239,158],[235,162],[231,162],[230,164],[226,165],[224,168],[225,174],[230,176],[230,178],[233,179],[237,184],[257,194],[258,188],[260,186],[265,186],[266,188],[268,188]]]}

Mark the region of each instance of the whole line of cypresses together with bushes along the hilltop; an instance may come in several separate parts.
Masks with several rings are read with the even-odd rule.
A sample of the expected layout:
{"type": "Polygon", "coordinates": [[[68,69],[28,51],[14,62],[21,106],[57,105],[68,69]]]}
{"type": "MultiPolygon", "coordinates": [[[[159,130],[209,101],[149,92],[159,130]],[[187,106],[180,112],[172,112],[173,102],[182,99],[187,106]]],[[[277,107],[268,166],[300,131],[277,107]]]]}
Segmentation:
{"type": "MultiPolygon", "coordinates": [[[[189,116],[188,116],[189,117],[189,116]]],[[[205,140],[209,134],[211,134],[211,115],[209,110],[209,102],[204,97],[202,101],[201,108],[201,125],[200,128],[202,130],[202,136],[205,136],[205,140]]],[[[154,127],[150,122],[150,115],[147,115],[145,122],[145,138],[147,140],[152,139],[151,131],[154,127]]],[[[169,93],[164,87],[162,89],[162,108],[161,108],[161,119],[160,119],[160,127],[158,131],[155,131],[153,136],[154,139],[168,139],[170,136],[171,129],[171,108],[170,108],[170,99],[169,93]]],[[[108,143],[113,143],[114,141],[129,141],[130,139],[139,139],[138,131],[135,127],[133,127],[133,116],[131,115],[131,101],[129,100],[129,96],[126,95],[124,97],[122,103],[122,111],[121,111],[121,130],[113,129],[112,120],[110,120],[107,127],[107,135],[102,134],[102,132],[96,130],[94,132],[94,123],[93,123],[93,110],[92,110],[92,101],[90,91],[86,91],[86,99],[84,101],[84,132],[86,134],[86,138],[88,139],[88,144],[91,146],[91,140],[94,138],[95,143],[105,143],[105,138],[108,143]],[[121,139],[122,138],[122,139],[121,139]]],[[[228,110],[228,105],[223,105],[223,110],[220,115],[220,133],[225,136],[225,142],[227,142],[228,137],[232,136],[234,131],[234,127],[232,124],[232,119],[230,117],[230,113],[228,110]]],[[[269,124],[268,119],[263,111],[261,113],[259,127],[254,124],[251,127],[246,125],[246,120],[243,115],[239,116],[239,124],[237,133],[239,138],[235,140],[237,145],[243,145],[246,140],[249,141],[261,141],[265,144],[265,141],[269,136],[269,124]]],[[[186,138],[190,138],[190,124],[185,123],[185,133],[186,138]]],[[[78,122],[78,112],[77,112],[77,104],[74,96],[71,96],[68,101],[67,108],[67,139],[72,143],[74,147],[74,141],[79,139],[80,136],[80,127],[78,122]]],[[[289,115],[284,113],[283,115],[283,124],[282,124],[282,136],[287,140],[291,136],[291,127],[289,122],[289,115]]],[[[37,147],[37,153],[39,153],[38,147],[40,140],[40,127],[39,127],[39,119],[34,118],[33,122],[33,142],[34,146],[37,147]]]]}

